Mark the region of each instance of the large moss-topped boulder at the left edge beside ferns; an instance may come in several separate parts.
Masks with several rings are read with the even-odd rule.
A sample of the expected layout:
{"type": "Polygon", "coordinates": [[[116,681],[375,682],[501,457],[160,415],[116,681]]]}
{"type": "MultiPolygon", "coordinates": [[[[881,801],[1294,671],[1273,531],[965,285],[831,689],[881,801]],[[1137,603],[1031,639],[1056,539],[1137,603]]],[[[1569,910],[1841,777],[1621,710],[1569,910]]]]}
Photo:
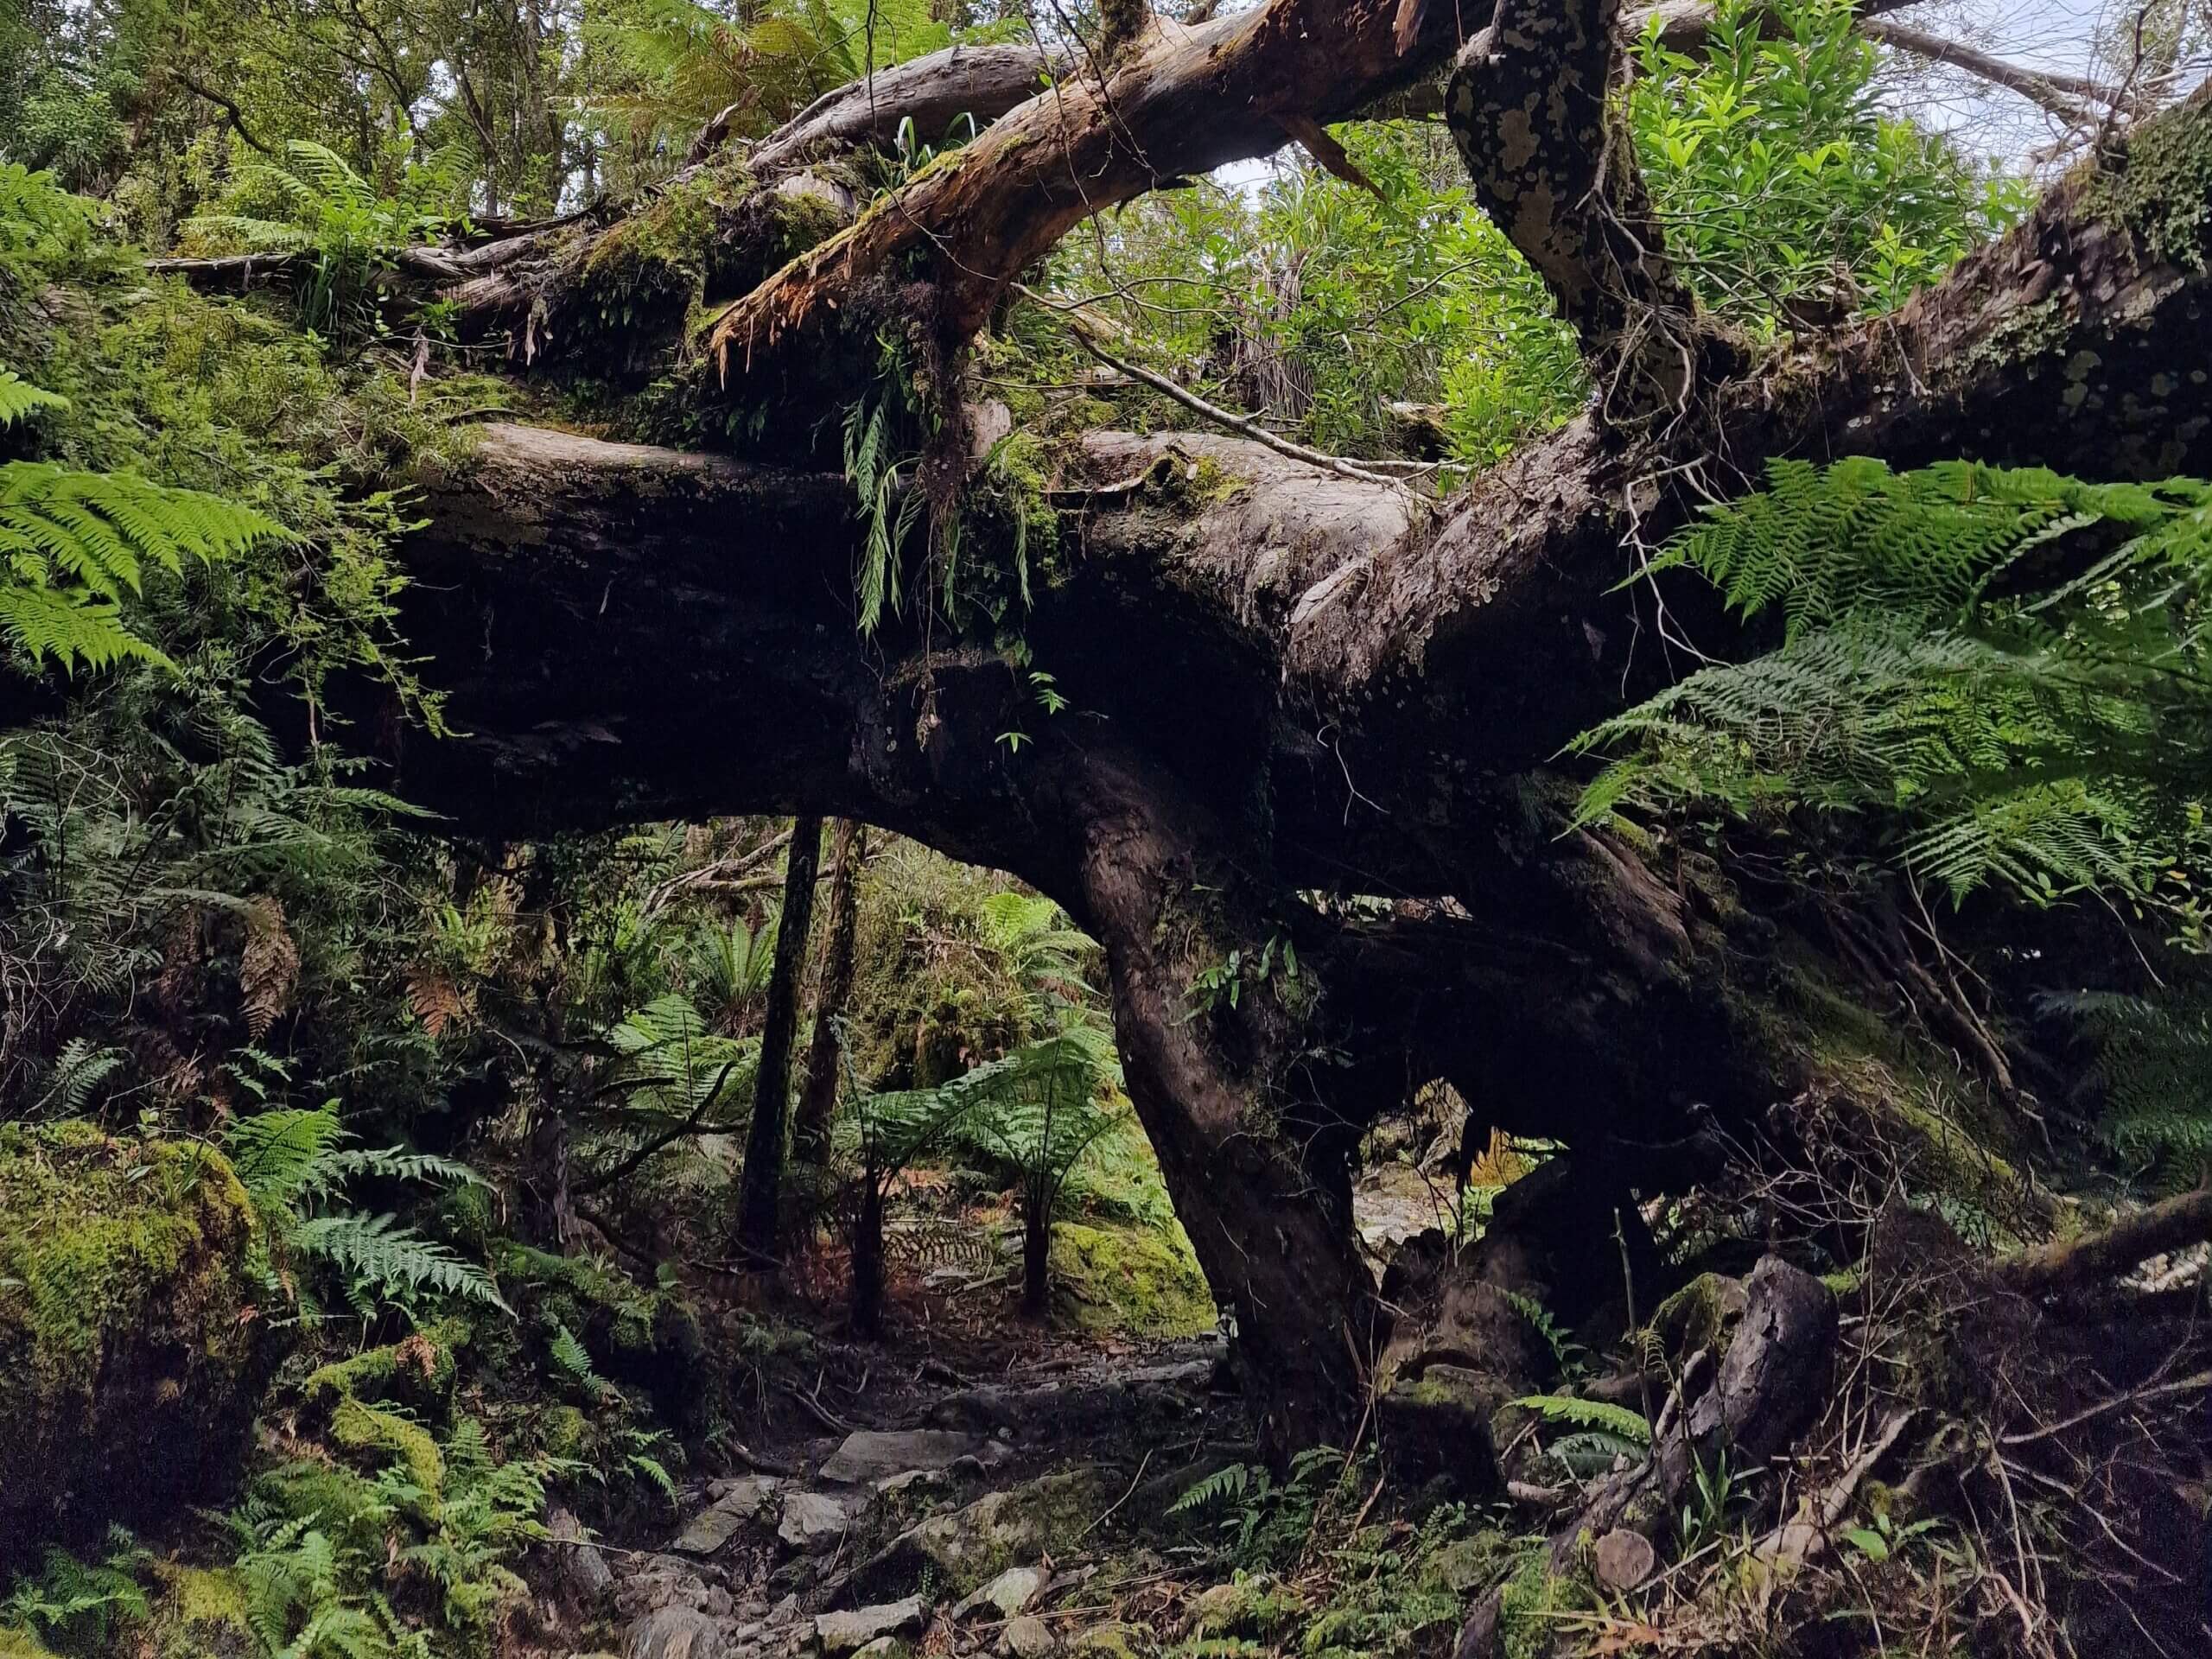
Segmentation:
{"type": "Polygon", "coordinates": [[[230,1164],[93,1124],[0,1128],[0,1551],[204,1500],[279,1358],[230,1164]]]}

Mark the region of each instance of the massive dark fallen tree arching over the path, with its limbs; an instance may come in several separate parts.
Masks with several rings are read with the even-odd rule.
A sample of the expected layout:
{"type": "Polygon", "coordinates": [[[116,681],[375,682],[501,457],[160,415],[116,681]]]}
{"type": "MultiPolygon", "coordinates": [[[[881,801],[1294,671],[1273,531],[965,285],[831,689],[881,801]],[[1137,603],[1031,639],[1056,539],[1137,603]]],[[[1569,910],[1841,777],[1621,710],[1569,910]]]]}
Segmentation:
{"type": "MultiPolygon", "coordinates": [[[[1462,64],[1455,124],[1502,131],[1546,64],[1601,84],[1604,9],[1575,18],[1566,55],[1506,42],[1520,62],[1495,82],[1462,64]]],[[[1376,4],[1321,27],[1298,0],[1164,27],[785,265],[719,338],[801,341],[812,307],[927,243],[938,338],[958,341],[1115,192],[1411,73],[1420,53],[1400,60],[1389,27],[1376,4]]],[[[1593,100],[1577,108],[1555,146],[1590,131],[1593,100]]],[[[1509,148],[1478,135],[1473,153],[1495,159],[1489,197],[1595,361],[1624,349],[1637,307],[1679,305],[1595,219],[1515,212],[1509,148]]],[[[1557,836],[1544,763],[1659,672],[1637,646],[1646,599],[1613,593],[1624,540],[1666,535],[1785,453],[2212,471],[2212,387],[2177,367],[2212,358],[2208,153],[2201,95],[1898,316],[1747,372],[1701,356],[1670,420],[1644,418],[1650,398],[1584,418],[1440,522],[1391,484],[1237,440],[1099,434],[1055,489],[1079,531],[1066,571],[1022,619],[1024,661],[1082,710],[1042,730],[995,635],[889,619],[858,637],[843,480],[491,429],[473,471],[429,495],[405,599],[467,737],[414,745],[403,785],[524,832],[838,814],[1053,894],[1106,947],[1130,1097],[1237,1307],[1276,1442],[1340,1436],[1380,1323],[1347,1217],[1347,1159],[1380,1102],[1451,1075],[1509,1126],[1659,1144],[1692,1104],[1741,1117],[1792,1088],[1736,995],[1767,971],[1772,929],[1679,867],[1661,880],[1601,836],[1557,836]],[[1201,456],[1245,487],[1183,489],[1201,456]],[[1312,889],[1451,902],[1367,922],[1312,889]],[[1307,982],[1208,1000],[1279,940],[1307,982]]],[[[1632,219],[1621,175],[1586,161],[1553,177],[1632,219]]]]}

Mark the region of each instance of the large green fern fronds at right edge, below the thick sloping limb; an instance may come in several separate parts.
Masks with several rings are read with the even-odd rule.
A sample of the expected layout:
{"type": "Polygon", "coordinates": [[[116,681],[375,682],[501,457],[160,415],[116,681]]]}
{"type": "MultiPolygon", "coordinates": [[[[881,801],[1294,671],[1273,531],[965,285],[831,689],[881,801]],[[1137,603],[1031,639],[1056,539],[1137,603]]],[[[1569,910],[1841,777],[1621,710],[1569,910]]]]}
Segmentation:
{"type": "Polygon", "coordinates": [[[1774,462],[1655,562],[1781,646],[1577,739],[1582,821],[1712,801],[1893,825],[1920,880],[2188,911],[2212,845],[2212,487],[1774,462]]]}

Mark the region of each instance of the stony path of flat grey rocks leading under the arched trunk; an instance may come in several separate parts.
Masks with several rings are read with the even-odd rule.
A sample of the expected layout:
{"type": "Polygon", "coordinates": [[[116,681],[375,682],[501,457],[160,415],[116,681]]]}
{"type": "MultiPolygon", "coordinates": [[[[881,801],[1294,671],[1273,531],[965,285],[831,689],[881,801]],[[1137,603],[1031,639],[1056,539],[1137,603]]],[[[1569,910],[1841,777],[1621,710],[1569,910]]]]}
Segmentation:
{"type": "Polygon", "coordinates": [[[750,1467],[686,1489],[657,1546],[557,1513],[564,1621],[619,1632],[624,1659],[1126,1652],[1117,1593],[1166,1564],[1146,1522],[1245,1451],[1221,1365],[1219,1338],[991,1378],[922,1360],[869,1391],[865,1425],[739,1447],[750,1467]]]}

